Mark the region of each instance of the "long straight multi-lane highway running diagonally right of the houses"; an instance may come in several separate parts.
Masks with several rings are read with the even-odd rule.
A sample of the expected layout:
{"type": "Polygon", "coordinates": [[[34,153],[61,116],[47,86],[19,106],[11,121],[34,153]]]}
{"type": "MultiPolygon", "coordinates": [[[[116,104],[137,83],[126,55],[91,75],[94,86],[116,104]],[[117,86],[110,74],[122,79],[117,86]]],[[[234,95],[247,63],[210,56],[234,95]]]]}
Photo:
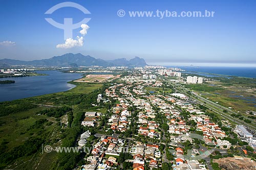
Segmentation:
{"type": "MultiPolygon", "coordinates": [[[[167,79],[165,79],[165,81],[170,83],[170,84],[172,84],[181,93],[184,93],[186,95],[190,94],[189,97],[191,99],[197,101],[200,104],[203,104],[204,106],[206,106],[207,108],[211,109],[212,111],[220,114],[222,117],[224,117],[224,118],[226,118],[228,120],[231,120],[232,122],[237,123],[239,125],[245,125],[245,126],[247,126],[248,128],[250,128],[250,129],[252,129],[254,131],[256,130],[256,126],[253,126],[253,125],[250,125],[248,123],[245,123],[243,120],[241,120],[239,118],[230,116],[230,114],[233,114],[233,113],[236,114],[236,112],[233,112],[232,110],[230,110],[230,109],[228,109],[228,108],[226,108],[224,106],[221,106],[221,105],[219,105],[219,104],[217,104],[215,102],[207,100],[207,99],[203,98],[202,96],[200,96],[200,95],[198,95],[198,94],[196,94],[194,92],[190,92],[189,93],[188,89],[180,86],[177,83],[174,83],[174,82],[172,82],[170,80],[167,80],[167,79]],[[223,110],[227,110],[228,112],[225,113],[225,112],[223,112],[223,110]]],[[[247,119],[249,119],[249,118],[247,118],[247,119]]],[[[252,120],[252,121],[253,121],[252,123],[254,123],[254,120],[252,120]]]]}

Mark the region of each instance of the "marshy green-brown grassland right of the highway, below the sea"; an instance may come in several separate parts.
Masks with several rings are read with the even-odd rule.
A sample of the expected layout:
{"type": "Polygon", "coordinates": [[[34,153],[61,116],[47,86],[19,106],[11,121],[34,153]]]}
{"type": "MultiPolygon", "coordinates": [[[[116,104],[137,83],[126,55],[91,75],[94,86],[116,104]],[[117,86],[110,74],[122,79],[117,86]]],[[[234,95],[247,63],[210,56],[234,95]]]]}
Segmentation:
{"type": "Polygon", "coordinates": [[[188,84],[186,88],[194,90],[204,98],[231,107],[237,111],[256,111],[256,79],[250,78],[214,78],[205,84],[188,84]]]}

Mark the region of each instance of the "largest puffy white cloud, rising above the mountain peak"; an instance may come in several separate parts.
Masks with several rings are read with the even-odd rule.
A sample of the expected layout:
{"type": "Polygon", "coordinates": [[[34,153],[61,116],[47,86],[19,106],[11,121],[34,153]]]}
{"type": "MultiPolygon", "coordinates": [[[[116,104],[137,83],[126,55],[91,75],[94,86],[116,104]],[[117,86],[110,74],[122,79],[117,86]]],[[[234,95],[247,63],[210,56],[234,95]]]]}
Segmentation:
{"type": "Polygon", "coordinates": [[[82,30],[80,30],[80,34],[82,34],[81,37],[77,36],[76,40],[72,38],[66,39],[65,43],[56,45],[56,48],[73,48],[73,47],[79,47],[83,45],[83,36],[87,34],[87,30],[90,28],[86,24],[81,25],[82,30]]]}

